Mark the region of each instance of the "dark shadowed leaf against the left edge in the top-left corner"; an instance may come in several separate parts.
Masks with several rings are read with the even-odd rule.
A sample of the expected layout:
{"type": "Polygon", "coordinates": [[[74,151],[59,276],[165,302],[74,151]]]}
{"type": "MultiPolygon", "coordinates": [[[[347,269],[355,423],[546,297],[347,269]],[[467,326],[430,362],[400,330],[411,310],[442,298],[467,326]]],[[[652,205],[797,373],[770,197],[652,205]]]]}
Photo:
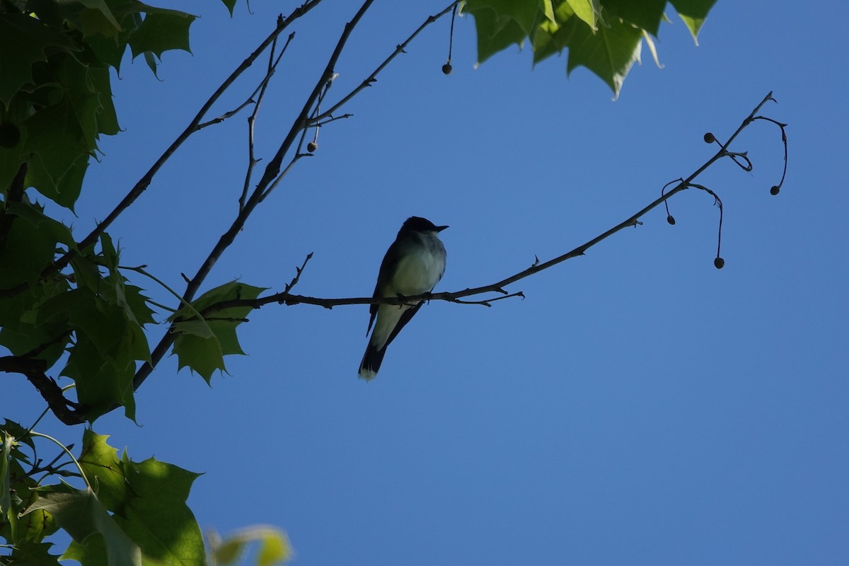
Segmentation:
{"type": "Polygon", "coordinates": [[[32,82],[32,65],[46,61],[46,51],[78,51],[69,36],[17,11],[0,13],[0,103],[8,106],[15,92],[32,82]]]}

